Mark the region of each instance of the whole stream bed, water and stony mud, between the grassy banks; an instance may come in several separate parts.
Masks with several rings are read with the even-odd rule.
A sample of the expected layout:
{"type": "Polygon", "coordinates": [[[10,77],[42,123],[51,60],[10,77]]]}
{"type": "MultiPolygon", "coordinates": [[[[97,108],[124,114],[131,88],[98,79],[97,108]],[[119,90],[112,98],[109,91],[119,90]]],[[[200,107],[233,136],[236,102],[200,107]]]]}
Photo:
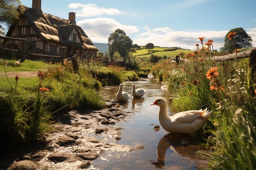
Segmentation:
{"type": "MultiPolygon", "coordinates": [[[[118,102],[119,86],[103,87],[99,93],[106,99],[105,108],[58,115],[52,130],[30,150],[2,154],[0,170],[197,170],[207,166],[200,156],[204,147],[197,139],[159,126],[159,107],[150,104],[157,97],[168,101],[169,92],[156,79],[123,84],[128,94],[132,84],[146,93],[118,102]]],[[[169,115],[175,114],[167,103],[169,115]]]]}

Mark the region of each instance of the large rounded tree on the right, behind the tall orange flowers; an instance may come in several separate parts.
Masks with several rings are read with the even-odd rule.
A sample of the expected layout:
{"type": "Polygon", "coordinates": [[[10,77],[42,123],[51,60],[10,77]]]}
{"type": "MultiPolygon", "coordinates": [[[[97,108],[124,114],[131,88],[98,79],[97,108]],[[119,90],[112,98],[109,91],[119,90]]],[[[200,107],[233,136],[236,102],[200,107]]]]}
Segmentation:
{"type": "Polygon", "coordinates": [[[237,49],[242,49],[242,48],[246,48],[246,47],[252,47],[252,38],[246,33],[246,31],[243,28],[235,28],[235,29],[231,29],[225,36],[225,40],[224,40],[224,46],[220,48],[221,52],[229,52],[232,53],[234,51],[234,44],[231,40],[229,40],[229,38],[227,37],[229,35],[229,33],[234,33],[236,32],[236,34],[234,35],[234,40],[236,42],[236,48],[237,49]]]}

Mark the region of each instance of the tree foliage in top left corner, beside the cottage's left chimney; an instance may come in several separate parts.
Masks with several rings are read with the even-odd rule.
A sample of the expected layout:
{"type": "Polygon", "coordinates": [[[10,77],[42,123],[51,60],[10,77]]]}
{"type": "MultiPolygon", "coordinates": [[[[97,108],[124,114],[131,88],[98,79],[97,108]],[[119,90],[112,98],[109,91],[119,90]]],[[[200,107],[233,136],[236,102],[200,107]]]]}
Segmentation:
{"type": "Polygon", "coordinates": [[[19,6],[20,4],[20,0],[0,0],[0,23],[6,24],[8,27],[11,26],[13,21],[18,19],[18,16],[24,11],[23,6],[19,6]]]}

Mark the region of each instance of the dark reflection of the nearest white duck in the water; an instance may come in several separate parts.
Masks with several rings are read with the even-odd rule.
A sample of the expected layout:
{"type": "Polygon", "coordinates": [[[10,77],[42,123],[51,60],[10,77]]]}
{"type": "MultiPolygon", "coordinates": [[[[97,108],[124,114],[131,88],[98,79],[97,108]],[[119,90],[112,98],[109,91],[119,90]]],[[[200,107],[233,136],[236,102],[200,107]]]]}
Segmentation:
{"type": "Polygon", "coordinates": [[[151,161],[151,163],[156,168],[162,169],[165,165],[166,150],[168,148],[171,148],[177,155],[195,159],[195,152],[199,147],[197,140],[190,135],[168,133],[159,140],[157,146],[157,162],[151,161]],[[187,141],[186,144],[182,144],[184,141],[187,141]]]}

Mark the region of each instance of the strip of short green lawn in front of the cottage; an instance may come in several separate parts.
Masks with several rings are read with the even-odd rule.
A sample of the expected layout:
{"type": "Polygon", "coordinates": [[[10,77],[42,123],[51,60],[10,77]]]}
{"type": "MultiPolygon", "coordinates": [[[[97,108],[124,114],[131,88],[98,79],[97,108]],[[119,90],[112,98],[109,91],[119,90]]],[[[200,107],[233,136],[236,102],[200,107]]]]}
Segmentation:
{"type": "MultiPolygon", "coordinates": [[[[16,60],[3,60],[0,59],[0,71],[4,72],[4,65],[3,61],[7,61],[8,63],[13,63],[16,60]]],[[[54,65],[54,64],[53,64],[54,65]]],[[[38,71],[39,69],[44,69],[50,66],[45,61],[32,61],[32,60],[25,60],[24,62],[21,62],[19,66],[11,66],[7,64],[7,72],[8,71],[38,71]]]]}

